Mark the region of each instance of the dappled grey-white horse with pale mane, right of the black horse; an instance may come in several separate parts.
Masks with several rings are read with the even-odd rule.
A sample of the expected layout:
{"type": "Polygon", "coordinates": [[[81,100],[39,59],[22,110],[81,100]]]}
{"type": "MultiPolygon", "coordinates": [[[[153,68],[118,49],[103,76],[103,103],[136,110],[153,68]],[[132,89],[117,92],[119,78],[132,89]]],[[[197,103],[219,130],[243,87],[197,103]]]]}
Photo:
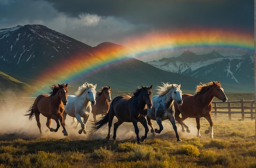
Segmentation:
{"type": "Polygon", "coordinates": [[[162,125],[162,120],[169,120],[173,126],[176,134],[177,142],[181,142],[179,134],[177,133],[177,127],[175,125],[175,110],[173,101],[176,101],[179,105],[182,105],[182,90],[180,85],[162,83],[163,87],[157,86],[158,95],[153,96],[153,108],[147,110],[147,121],[148,125],[151,127],[151,133],[161,133],[164,129],[162,125]],[[159,125],[159,130],[153,128],[151,120],[156,120],[159,125]]]}

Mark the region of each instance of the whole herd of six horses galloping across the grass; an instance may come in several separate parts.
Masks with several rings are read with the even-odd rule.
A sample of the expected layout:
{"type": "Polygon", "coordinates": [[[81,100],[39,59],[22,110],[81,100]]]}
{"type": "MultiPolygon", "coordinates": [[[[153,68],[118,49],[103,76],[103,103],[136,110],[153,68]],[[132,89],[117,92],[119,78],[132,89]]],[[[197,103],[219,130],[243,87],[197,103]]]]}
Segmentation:
{"type": "Polygon", "coordinates": [[[213,138],[213,122],[211,120],[212,100],[214,97],[227,101],[227,96],[220,82],[209,82],[196,86],[194,95],[182,94],[181,85],[162,83],[157,86],[157,96],[153,96],[153,86],[142,86],[135,90],[132,96],[120,95],[111,100],[111,87],[101,87],[99,92],[96,91],[97,84],[84,83],[79,87],[75,95],[68,95],[68,84],[53,85],[52,92],[39,95],[34,104],[30,106],[26,116],[32,120],[35,116],[37,126],[41,131],[39,120],[40,113],[47,118],[46,126],[50,131],[57,132],[60,125],[63,127],[63,134],[68,135],[65,129],[66,116],[73,117],[73,121],[77,120],[78,127],[81,124],[79,134],[86,133],[85,125],[88,121],[90,113],[93,114],[93,129],[100,130],[108,124],[108,136],[111,137],[111,127],[113,118],[118,119],[114,124],[113,139],[116,139],[117,128],[124,122],[132,122],[137,136],[137,144],[141,144],[149,131],[148,125],[151,127],[151,133],[161,133],[163,130],[162,121],[170,120],[176,134],[177,142],[180,137],[177,132],[175,120],[190,132],[189,127],[184,123],[186,118],[195,118],[198,129],[198,137],[200,135],[200,118],[204,117],[210,124],[209,130],[213,138]],[[96,120],[96,116],[101,114],[102,118],[96,120]],[[105,115],[105,116],[104,116],[105,115]],[[180,117],[182,116],[182,117],[180,117]],[[83,118],[83,120],[82,120],[83,118]],[[56,121],[57,127],[50,127],[51,119],[56,121]],[[151,120],[156,120],[159,129],[154,129],[151,120]],[[137,122],[140,122],[145,128],[145,135],[139,138],[139,129],[137,122]]]}

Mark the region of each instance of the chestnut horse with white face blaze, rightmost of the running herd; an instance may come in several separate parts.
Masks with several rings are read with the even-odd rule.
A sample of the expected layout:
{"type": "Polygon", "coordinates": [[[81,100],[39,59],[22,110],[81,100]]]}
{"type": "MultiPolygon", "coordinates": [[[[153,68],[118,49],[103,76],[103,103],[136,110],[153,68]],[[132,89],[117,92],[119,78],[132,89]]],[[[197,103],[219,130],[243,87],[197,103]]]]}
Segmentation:
{"type": "Polygon", "coordinates": [[[198,129],[198,137],[200,135],[200,118],[204,117],[210,124],[208,130],[205,131],[206,134],[210,132],[210,138],[213,138],[213,122],[211,120],[211,110],[212,110],[212,100],[216,97],[222,102],[227,101],[227,96],[224,93],[224,89],[220,85],[220,81],[218,82],[209,82],[196,86],[196,91],[194,95],[191,94],[182,94],[183,104],[177,105],[174,103],[175,107],[175,120],[179,122],[182,126],[182,132],[185,132],[184,127],[186,127],[186,131],[190,133],[189,127],[183,122],[186,118],[195,118],[197,129],[198,129]],[[180,113],[182,118],[180,118],[180,113]]]}

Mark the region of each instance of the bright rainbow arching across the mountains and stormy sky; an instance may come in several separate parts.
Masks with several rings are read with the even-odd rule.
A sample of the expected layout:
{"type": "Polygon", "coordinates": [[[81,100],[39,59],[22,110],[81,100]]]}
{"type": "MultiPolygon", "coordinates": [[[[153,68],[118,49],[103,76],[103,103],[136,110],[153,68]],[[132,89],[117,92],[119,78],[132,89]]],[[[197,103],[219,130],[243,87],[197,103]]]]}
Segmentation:
{"type": "MultiPolygon", "coordinates": [[[[139,60],[152,60],[159,55],[178,56],[184,50],[191,50],[198,54],[197,51],[213,49],[220,53],[222,50],[231,50],[240,55],[248,52],[254,53],[254,35],[253,33],[234,30],[183,29],[175,32],[163,31],[135,35],[124,39],[121,45],[126,47],[122,50],[103,48],[94,55],[86,55],[86,53],[71,55],[69,60],[63,60],[60,63],[61,66],[49,67],[40,74],[35,80],[34,86],[41,85],[42,90],[49,91],[49,85],[52,83],[69,83],[84,74],[90,74],[94,70],[111,66],[112,63],[125,61],[131,57],[139,60]]],[[[35,91],[33,96],[38,93],[35,91]]]]}

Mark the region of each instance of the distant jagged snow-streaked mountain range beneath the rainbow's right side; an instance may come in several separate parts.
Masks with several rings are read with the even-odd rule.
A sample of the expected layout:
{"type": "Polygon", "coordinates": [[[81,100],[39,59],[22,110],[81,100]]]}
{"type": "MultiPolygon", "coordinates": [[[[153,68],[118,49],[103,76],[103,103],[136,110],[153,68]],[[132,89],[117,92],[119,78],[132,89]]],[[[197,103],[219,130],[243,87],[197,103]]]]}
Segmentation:
{"type": "Polygon", "coordinates": [[[215,50],[204,55],[184,51],[179,57],[148,63],[168,72],[240,85],[254,92],[254,57],[249,54],[238,57],[222,56],[215,50]]]}

